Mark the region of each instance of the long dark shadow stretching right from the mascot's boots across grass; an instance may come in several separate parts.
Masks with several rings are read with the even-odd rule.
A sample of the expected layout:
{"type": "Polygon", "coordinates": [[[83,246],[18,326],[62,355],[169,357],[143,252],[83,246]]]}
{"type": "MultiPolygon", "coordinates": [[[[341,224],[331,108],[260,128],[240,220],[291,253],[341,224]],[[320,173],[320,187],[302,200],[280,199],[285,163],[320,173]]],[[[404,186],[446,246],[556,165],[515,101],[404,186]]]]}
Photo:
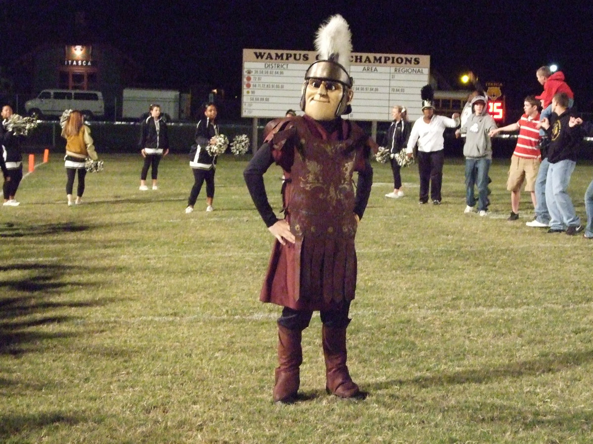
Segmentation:
{"type": "Polygon", "coordinates": [[[437,385],[485,384],[495,379],[522,378],[525,376],[557,373],[590,361],[593,361],[593,350],[558,353],[541,358],[528,359],[527,361],[509,362],[500,366],[364,384],[364,388],[374,391],[383,390],[393,385],[415,384],[420,387],[435,387],[437,385]]]}

